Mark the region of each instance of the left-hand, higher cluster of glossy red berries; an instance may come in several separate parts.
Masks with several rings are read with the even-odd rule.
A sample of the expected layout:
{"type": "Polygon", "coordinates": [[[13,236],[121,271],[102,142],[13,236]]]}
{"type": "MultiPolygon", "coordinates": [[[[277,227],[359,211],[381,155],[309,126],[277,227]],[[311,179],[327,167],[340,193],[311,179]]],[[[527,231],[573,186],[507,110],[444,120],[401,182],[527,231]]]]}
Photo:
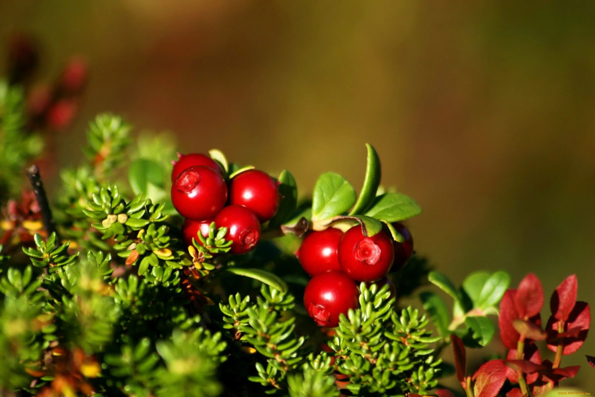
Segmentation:
{"type": "Polygon", "coordinates": [[[208,155],[178,157],[171,173],[171,201],[186,218],[184,243],[192,245],[198,233],[208,237],[214,221],[218,228],[227,227],[231,254],[252,251],[261,236],[261,223],[273,218],[279,207],[277,180],[263,171],[246,170],[226,183],[225,171],[208,155]]]}

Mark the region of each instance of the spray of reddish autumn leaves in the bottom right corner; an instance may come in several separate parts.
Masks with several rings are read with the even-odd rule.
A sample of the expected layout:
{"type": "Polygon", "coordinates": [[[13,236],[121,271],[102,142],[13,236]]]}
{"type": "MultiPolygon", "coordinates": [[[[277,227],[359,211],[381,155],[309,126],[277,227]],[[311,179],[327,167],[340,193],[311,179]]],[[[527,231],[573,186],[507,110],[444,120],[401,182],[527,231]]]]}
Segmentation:
{"type": "MultiPolygon", "coordinates": [[[[517,289],[506,291],[500,302],[498,319],[500,337],[509,349],[506,360],[488,361],[471,377],[465,374],[462,340],[452,336],[456,377],[465,390],[473,387],[472,393],[467,390],[468,395],[495,397],[506,379],[519,385],[510,390],[507,397],[521,397],[529,392],[540,395],[560,380],[578,373],[578,366],[560,368],[562,355],[572,354],[583,345],[591,321],[589,305],[577,302],[577,276],[569,276],[553,293],[550,299],[552,315],[545,330],[541,329],[540,317],[543,303],[543,288],[534,274],[528,274],[517,289]],[[536,340],[546,340],[547,347],[556,352],[554,362],[541,360],[536,340]]],[[[587,356],[587,360],[589,358],[587,356]]],[[[440,392],[440,397],[449,397],[447,390],[440,392]]]]}

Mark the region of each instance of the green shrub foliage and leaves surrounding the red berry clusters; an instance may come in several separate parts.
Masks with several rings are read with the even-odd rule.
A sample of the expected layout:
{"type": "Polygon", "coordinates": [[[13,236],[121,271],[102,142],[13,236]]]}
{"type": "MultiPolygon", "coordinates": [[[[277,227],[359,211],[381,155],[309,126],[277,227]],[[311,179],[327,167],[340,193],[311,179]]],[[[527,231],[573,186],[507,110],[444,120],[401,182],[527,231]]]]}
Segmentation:
{"type": "MultiPolygon", "coordinates": [[[[15,142],[22,102],[18,90],[0,83],[2,151],[15,157],[0,156],[10,161],[0,168],[10,173],[21,172],[17,157],[37,148],[15,142]]],[[[429,281],[454,300],[452,314],[437,290],[422,292],[418,308],[403,307],[401,298],[427,284],[430,266],[419,255],[392,274],[396,295],[389,285],[361,283],[358,308],[340,315],[335,329],[320,329],[306,315],[307,279],[292,255],[299,236],[361,224],[368,235],[389,227],[402,241],[384,225],[421,212],[411,198],[379,185],[372,146],[359,195],[340,175],[325,173],[312,201],[298,201],[295,179],[283,171],[277,215],[262,226],[254,251],[234,256],[227,230],[215,224],[192,246],[181,242],[181,218],[168,194],[176,155],[167,137],[132,139],[129,124],[102,114],[90,123],[87,141],[86,160],[62,170],[58,193],[49,197],[58,234],[40,225],[43,209],[14,209],[33,196],[3,204],[2,395],[450,393],[439,389],[440,379],[455,372],[441,360],[443,349],[453,338],[469,348],[493,339],[487,316],[498,314],[508,274],[474,273],[457,288],[432,272],[429,281]]],[[[210,154],[227,177],[243,168],[220,151],[210,154]]],[[[18,183],[20,189],[27,181],[18,183]]],[[[528,377],[521,367],[517,362],[515,371],[528,377]]]]}

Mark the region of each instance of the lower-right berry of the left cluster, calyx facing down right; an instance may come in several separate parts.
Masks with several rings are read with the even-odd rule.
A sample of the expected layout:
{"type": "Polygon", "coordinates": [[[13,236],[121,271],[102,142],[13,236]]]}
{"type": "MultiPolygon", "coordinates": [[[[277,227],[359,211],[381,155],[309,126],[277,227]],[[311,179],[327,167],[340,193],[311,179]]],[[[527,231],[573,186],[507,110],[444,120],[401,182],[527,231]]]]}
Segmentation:
{"type": "Polygon", "coordinates": [[[260,239],[260,223],[256,215],[239,205],[223,208],[215,217],[217,227],[227,227],[226,240],[231,240],[231,254],[246,254],[252,251],[260,239]]]}

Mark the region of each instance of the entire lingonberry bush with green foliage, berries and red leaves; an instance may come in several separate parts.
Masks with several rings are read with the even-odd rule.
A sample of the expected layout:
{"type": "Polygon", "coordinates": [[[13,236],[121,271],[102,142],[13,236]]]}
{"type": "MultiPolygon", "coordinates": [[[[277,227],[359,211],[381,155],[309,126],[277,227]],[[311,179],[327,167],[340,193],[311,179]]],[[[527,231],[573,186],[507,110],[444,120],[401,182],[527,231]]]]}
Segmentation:
{"type": "MultiPolygon", "coordinates": [[[[21,111],[3,107],[0,121],[21,111]]],[[[57,195],[32,166],[33,192],[5,204],[2,395],[517,397],[578,371],[562,363],[590,324],[576,277],[543,325],[533,274],[509,289],[505,271],[461,287],[430,271],[402,223],[421,209],[380,185],[370,145],[359,194],[324,173],[312,199],[289,171],[275,178],[218,150],[176,155],[168,137],[133,139],[115,115],[90,123],[83,151],[57,195]],[[417,293],[418,308],[402,304],[417,293]],[[506,350],[467,368],[494,316],[506,350]]]]}

